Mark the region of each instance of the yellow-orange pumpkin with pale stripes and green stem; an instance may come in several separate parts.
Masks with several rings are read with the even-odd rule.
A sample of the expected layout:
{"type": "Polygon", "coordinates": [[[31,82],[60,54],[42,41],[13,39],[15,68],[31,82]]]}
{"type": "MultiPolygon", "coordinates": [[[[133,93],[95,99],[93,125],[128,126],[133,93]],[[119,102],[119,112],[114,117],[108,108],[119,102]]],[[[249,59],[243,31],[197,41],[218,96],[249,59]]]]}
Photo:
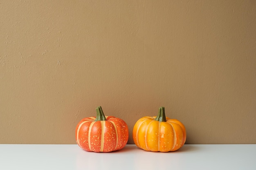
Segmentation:
{"type": "Polygon", "coordinates": [[[165,116],[164,107],[157,117],[142,117],[132,130],[136,146],[147,151],[169,152],[181,148],[186,141],[186,128],[177,119],[165,116]]]}

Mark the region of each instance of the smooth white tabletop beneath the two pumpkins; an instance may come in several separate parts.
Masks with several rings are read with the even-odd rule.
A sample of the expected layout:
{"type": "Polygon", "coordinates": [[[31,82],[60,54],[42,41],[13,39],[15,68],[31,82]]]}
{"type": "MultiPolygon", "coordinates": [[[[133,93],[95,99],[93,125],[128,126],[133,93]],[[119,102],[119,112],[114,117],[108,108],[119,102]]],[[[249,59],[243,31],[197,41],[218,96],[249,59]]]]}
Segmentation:
{"type": "Polygon", "coordinates": [[[166,153],[135,145],[96,153],[76,144],[0,144],[0,170],[256,170],[256,144],[184,145],[166,153]]]}

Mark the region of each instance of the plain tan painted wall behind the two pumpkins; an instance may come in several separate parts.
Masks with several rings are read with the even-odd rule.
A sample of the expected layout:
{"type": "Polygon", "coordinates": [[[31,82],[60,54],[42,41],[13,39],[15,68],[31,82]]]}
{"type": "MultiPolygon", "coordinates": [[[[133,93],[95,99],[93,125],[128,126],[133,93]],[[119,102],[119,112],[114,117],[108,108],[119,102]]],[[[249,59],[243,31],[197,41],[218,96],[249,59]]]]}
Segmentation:
{"type": "Polygon", "coordinates": [[[83,117],[179,119],[256,144],[255,0],[1,0],[0,143],[75,144],[83,117]]]}

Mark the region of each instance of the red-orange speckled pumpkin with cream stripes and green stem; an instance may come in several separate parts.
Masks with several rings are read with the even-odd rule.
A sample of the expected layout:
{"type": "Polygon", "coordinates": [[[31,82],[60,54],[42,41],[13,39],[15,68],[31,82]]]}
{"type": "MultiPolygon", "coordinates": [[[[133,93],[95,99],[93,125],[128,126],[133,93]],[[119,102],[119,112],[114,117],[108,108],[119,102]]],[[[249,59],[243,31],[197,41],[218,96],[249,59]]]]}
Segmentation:
{"type": "Polygon", "coordinates": [[[111,152],[124,148],[128,141],[128,126],[120,118],[106,116],[101,106],[96,117],[86,117],[76,126],[76,143],[86,151],[111,152]]]}

